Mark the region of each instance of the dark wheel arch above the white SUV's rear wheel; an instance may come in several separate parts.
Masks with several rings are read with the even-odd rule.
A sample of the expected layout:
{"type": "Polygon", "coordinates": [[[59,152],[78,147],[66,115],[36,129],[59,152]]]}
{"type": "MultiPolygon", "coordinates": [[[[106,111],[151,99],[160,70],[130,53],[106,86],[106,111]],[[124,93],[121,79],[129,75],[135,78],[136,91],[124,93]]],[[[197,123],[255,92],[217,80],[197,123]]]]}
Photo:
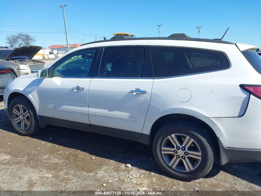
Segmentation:
{"type": "Polygon", "coordinates": [[[152,146],[153,138],[155,134],[158,132],[159,128],[163,126],[164,124],[173,121],[173,120],[188,120],[190,122],[196,123],[203,128],[205,128],[211,138],[213,139],[214,142],[214,147],[216,151],[216,162],[220,163],[220,148],[219,148],[219,142],[218,142],[218,137],[217,134],[214,132],[213,128],[211,128],[207,123],[205,123],[203,120],[200,120],[196,118],[195,116],[187,115],[187,114],[167,114],[164,116],[161,116],[158,118],[154,124],[152,125],[150,129],[150,134],[149,134],[149,146],[152,146]]]}

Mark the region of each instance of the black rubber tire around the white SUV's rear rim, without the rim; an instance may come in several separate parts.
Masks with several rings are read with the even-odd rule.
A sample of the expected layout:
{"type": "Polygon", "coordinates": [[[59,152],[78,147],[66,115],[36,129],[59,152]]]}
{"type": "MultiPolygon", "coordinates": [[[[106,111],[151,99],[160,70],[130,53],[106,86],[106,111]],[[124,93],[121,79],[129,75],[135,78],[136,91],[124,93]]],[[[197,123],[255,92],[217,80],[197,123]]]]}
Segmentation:
{"type": "MultiPolygon", "coordinates": [[[[153,139],[153,155],[159,167],[168,175],[182,181],[192,181],[204,177],[214,163],[214,145],[206,129],[198,124],[185,120],[176,120],[163,125],[153,139]],[[172,134],[184,134],[191,137],[199,146],[201,160],[192,171],[178,171],[169,166],[161,152],[163,141],[172,134]]],[[[170,155],[167,155],[170,156],[170,155]]],[[[178,156],[174,154],[171,156],[178,156]]],[[[178,164],[182,164],[179,162],[178,164]]]]}

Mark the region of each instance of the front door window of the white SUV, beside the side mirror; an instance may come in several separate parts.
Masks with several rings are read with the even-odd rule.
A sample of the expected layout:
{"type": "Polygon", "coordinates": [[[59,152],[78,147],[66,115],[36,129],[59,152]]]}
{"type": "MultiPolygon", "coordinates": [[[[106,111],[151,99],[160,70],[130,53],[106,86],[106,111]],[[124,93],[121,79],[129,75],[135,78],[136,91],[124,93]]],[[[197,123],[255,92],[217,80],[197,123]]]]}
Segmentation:
{"type": "Polygon", "coordinates": [[[82,50],[66,56],[53,66],[51,77],[91,77],[96,50],[82,50]]]}

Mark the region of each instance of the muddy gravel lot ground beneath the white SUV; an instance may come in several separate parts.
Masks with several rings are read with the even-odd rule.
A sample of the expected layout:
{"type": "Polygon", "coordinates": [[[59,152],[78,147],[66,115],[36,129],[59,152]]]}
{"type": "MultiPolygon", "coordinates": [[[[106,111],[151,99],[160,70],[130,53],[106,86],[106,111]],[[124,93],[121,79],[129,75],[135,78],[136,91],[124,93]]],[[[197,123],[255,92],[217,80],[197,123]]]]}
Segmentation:
{"type": "Polygon", "coordinates": [[[55,126],[32,137],[20,136],[0,96],[0,190],[194,188],[261,190],[261,163],[214,165],[204,178],[178,181],[158,168],[148,146],[137,142],[55,126]]]}

